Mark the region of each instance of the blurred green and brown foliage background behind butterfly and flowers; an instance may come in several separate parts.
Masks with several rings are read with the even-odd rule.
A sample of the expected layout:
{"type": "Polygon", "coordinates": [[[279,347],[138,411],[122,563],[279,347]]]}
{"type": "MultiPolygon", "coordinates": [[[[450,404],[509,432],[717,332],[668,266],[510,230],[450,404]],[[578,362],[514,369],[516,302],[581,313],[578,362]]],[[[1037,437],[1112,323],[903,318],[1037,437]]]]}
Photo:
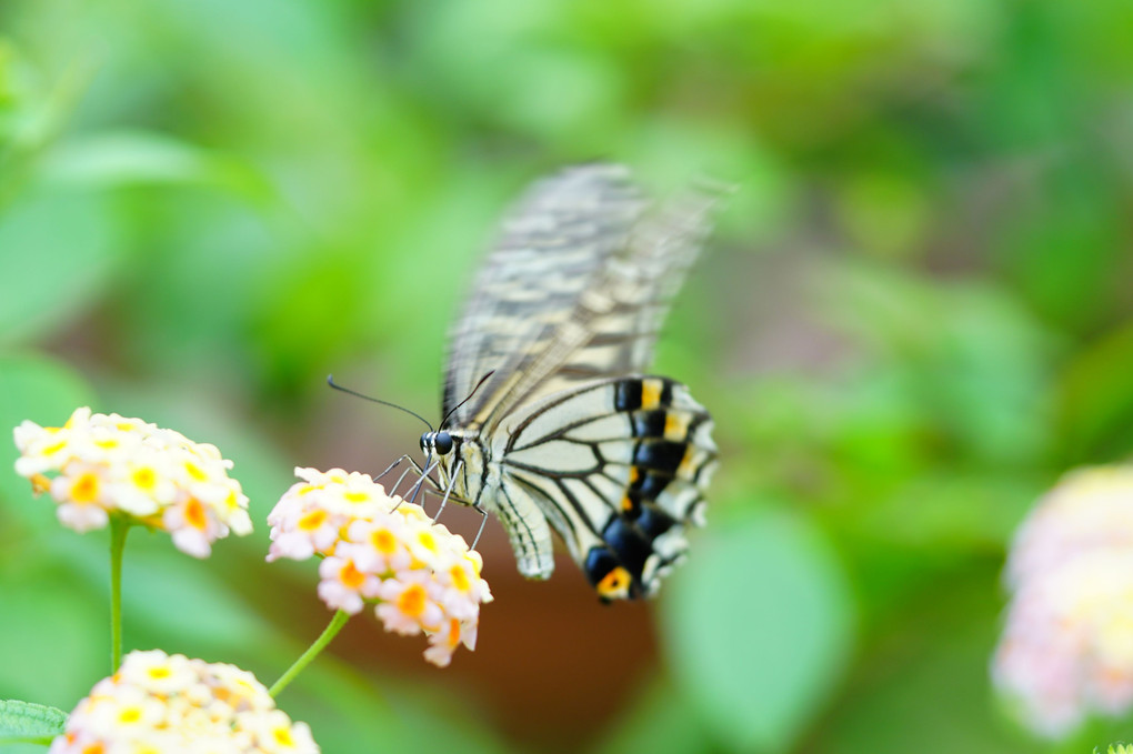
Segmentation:
{"type": "MultiPolygon", "coordinates": [[[[270,683],[329,619],[263,556],[292,468],[437,415],[510,199],[595,158],[740,185],[657,370],[717,417],[709,525],[648,605],[531,584],[479,648],[356,618],[280,700],[323,751],[1042,752],[988,682],[1012,531],[1133,447],[1123,0],[0,2],[0,429],[77,405],[220,446],[255,534],[136,531],[127,646],[270,683]]],[[[7,431],[7,430],[5,430],[7,431]]],[[[108,672],[107,532],[0,445],[0,697],[108,672]]],[[[445,523],[467,535],[476,516],[445,523]]],[[[1094,736],[1094,737],[1090,737],[1094,736]]],[[[1116,737],[1116,736],[1115,736],[1116,737]]]]}

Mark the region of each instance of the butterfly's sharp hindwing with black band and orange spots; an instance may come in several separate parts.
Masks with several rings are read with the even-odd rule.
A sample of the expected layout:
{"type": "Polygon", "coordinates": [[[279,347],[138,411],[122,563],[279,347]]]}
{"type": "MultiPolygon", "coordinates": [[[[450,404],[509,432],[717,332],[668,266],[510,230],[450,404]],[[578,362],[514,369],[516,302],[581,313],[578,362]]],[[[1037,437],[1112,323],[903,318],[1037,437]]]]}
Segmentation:
{"type": "Polygon", "coordinates": [[[594,380],[501,430],[503,488],[539,507],[598,594],[654,593],[684,555],[685,526],[702,521],[715,465],[712,419],[688,388],[664,377],[594,380]]]}

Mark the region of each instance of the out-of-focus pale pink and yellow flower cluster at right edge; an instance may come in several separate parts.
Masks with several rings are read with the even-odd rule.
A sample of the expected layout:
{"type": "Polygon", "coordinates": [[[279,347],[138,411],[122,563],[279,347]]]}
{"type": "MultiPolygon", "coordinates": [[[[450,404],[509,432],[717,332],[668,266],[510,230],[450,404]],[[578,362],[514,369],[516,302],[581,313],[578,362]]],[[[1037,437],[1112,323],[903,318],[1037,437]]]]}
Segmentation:
{"type": "Polygon", "coordinates": [[[1023,720],[1062,737],[1133,706],[1133,468],[1082,469],[1020,528],[993,676],[1023,720]]]}

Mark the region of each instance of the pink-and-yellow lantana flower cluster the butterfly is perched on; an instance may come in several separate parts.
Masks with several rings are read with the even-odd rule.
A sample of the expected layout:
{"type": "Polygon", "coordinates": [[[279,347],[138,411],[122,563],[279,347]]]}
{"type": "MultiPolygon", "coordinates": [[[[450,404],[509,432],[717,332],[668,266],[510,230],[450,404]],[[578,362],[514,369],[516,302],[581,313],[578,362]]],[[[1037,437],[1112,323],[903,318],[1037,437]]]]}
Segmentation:
{"type": "Polygon", "coordinates": [[[476,648],[480,605],[492,600],[478,552],[367,474],[296,475],[303,481],[267,516],[269,560],[323,556],[318,596],[329,608],[353,615],[376,603],[386,631],[428,636],[425,658],[438,667],[460,644],[476,648]]]}

